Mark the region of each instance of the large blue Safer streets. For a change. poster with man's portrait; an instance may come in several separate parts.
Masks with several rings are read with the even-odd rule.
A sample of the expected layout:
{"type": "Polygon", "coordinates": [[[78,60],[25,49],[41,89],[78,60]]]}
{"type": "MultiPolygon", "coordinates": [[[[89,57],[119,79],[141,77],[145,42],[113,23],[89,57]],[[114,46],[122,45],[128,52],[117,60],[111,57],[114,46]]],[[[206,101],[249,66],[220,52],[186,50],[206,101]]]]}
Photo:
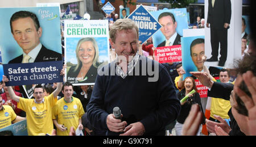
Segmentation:
{"type": "Polygon", "coordinates": [[[59,7],[0,8],[0,13],[6,85],[62,82],[59,7]]]}

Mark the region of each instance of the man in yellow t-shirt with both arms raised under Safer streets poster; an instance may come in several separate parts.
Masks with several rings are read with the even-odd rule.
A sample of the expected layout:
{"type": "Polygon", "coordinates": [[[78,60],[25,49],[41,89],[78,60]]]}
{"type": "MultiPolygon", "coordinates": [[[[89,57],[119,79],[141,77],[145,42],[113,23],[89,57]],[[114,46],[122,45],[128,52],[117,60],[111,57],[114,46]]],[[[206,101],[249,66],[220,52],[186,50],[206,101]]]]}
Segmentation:
{"type": "MultiPolygon", "coordinates": [[[[64,68],[60,75],[64,75],[64,68]]],[[[3,82],[9,79],[3,75],[3,82]]],[[[57,95],[61,91],[62,82],[57,83],[56,90],[49,96],[44,96],[44,89],[41,85],[36,85],[33,91],[35,99],[25,99],[15,95],[13,88],[7,86],[11,99],[15,100],[17,107],[26,112],[27,132],[30,136],[50,134],[53,130],[52,107],[57,102],[57,95]]]]}

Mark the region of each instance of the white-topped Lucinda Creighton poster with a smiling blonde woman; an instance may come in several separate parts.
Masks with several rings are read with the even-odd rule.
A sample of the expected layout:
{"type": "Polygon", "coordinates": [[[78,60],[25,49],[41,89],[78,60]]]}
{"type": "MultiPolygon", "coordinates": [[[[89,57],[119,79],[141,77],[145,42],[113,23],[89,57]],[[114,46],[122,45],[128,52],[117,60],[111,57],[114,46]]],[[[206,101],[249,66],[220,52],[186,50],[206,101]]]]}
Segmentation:
{"type": "Polygon", "coordinates": [[[65,20],[65,79],[94,85],[97,69],[109,63],[108,20],[65,20]]]}

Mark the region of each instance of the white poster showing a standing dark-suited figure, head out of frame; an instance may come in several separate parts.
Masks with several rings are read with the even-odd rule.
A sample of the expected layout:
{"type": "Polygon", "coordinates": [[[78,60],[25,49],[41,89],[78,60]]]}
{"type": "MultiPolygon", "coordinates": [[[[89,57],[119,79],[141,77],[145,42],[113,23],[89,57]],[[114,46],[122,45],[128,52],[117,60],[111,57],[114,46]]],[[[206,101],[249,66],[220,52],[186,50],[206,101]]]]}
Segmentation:
{"type": "Polygon", "coordinates": [[[205,65],[233,68],[241,58],[242,0],[205,1],[205,65]]]}

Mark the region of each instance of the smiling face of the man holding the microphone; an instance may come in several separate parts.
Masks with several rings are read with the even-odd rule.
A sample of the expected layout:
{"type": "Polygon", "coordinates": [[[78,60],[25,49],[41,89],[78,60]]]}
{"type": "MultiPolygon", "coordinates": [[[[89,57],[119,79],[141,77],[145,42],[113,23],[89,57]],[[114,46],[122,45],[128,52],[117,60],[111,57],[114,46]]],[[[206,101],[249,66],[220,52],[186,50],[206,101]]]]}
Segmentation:
{"type": "Polygon", "coordinates": [[[127,63],[133,60],[138,51],[138,35],[135,28],[117,31],[115,40],[110,39],[111,46],[119,58],[125,58],[127,63]]]}

